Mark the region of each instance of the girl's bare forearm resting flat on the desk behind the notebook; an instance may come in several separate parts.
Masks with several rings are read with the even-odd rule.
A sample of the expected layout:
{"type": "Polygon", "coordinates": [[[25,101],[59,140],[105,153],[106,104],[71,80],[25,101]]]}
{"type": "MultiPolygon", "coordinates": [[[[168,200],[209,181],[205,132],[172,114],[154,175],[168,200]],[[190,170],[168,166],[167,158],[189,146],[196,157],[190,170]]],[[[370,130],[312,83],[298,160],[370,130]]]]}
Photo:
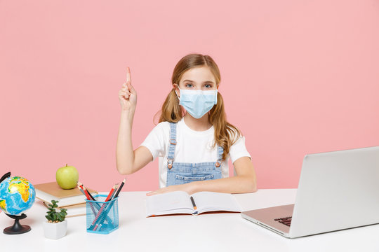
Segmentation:
{"type": "Polygon", "coordinates": [[[185,183],[178,186],[168,186],[161,188],[147,195],[155,195],[159,193],[168,193],[175,190],[184,190],[189,195],[201,191],[217,192],[217,193],[255,193],[257,191],[257,181],[255,170],[250,158],[242,157],[233,163],[237,176],[225,179],[215,179],[208,181],[196,181],[185,183]]]}

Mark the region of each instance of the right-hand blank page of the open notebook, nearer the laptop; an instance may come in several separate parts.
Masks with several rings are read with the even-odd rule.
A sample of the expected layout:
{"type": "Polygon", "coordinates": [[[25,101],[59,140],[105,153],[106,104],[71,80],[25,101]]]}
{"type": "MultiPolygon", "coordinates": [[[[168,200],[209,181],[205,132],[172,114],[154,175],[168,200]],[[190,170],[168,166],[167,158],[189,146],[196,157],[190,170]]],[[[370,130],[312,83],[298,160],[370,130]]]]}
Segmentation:
{"type": "Polygon", "coordinates": [[[199,192],[192,195],[197,210],[204,211],[241,211],[237,200],[230,193],[199,192]]]}

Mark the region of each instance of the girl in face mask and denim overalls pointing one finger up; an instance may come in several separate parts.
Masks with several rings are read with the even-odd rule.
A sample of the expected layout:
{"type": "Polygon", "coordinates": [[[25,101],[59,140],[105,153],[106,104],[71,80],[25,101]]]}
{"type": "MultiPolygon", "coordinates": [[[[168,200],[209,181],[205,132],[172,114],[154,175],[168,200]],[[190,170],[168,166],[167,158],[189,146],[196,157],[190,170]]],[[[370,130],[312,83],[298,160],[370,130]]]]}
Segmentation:
{"type": "Polygon", "coordinates": [[[173,70],[172,90],[161,109],[159,124],[133,151],[131,129],[137,92],[126,83],[119,90],[121,121],[117,138],[117,170],[132,174],[158,156],[160,189],[147,195],[183,190],[251,193],[257,190],[245,139],[227,123],[218,87],[220,71],[208,55],[182,57],[173,70]],[[229,176],[232,159],[237,176],[229,176]]]}

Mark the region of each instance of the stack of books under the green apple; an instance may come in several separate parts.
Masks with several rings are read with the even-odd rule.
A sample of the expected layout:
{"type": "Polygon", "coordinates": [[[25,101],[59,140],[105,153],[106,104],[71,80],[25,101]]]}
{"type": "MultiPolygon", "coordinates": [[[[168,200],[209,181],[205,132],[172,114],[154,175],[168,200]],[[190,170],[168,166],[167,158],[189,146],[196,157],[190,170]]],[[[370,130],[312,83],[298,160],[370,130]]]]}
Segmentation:
{"type": "MultiPolygon", "coordinates": [[[[66,217],[86,215],[86,196],[75,187],[65,190],[58,186],[57,182],[41,183],[34,185],[36,190],[36,198],[44,202],[46,208],[51,204],[52,200],[58,201],[58,209],[67,209],[66,217]]],[[[87,188],[87,190],[95,197],[97,191],[87,188]]]]}

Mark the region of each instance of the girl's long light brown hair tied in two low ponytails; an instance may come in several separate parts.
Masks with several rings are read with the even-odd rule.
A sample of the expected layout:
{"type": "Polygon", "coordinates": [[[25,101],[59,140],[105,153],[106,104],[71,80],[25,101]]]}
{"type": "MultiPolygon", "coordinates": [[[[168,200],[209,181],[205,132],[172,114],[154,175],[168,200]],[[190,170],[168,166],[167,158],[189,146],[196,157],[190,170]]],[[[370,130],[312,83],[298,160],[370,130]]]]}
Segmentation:
{"type": "MultiPolygon", "coordinates": [[[[185,73],[185,71],[199,66],[208,66],[209,69],[211,69],[211,72],[213,73],[213,76],[216,80],[216,85],[218,86],[221,80],[221,76],[217,64],[215,64],[211,56],[195,53],[182,57],[178,64],[176,64],[173,70],[173,76],[171,77],[172,85],[174,83],[177,83],[179,85],[180,78],[182,78],[182,75],[185,73]]],[[[159,112],[161,113],[159,123],[178,123],[178,121],[180,121],[185,115],[184,109],[179,105],[179,99],[175,93],[174,85],[171,92],[168,93],[162,109],[159,112]]],[[[237,127],[227,122],[224,109],[224,100],[222,99],[220,92],[217,94],[217,104],[215,104],[215,106],[213,106],[211,111],[208,113],[209,123],[211,123],[215,129],[215,143],[213,143],[213,148],[215,147],[215,144],[222,146],[222,148],[224,148],[222,160],[225,160],[227,154],[229,153],[230,146],[232,146],[235,141],[239,139],[241,132],[239,129],[237,129],[237,127]]]]}

